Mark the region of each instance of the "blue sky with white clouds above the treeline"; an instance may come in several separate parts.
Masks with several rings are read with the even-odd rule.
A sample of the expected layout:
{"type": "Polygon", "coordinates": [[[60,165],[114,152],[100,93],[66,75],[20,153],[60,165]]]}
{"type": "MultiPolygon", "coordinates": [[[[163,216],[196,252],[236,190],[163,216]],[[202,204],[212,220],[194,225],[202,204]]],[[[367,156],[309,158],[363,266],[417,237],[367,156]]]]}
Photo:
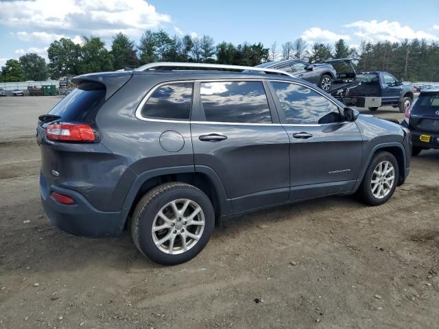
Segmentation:
{"type": "Polygon", "coordinates": [[[0,0],[0,66],[38,53],[47,59],[54,40],[127,34],[139,42],[145,29],[171,35],[213,37],[215,42],[262,42],[270,47],[296,38],[333,44],[361,40],[426,38],[439,41],[439,1],[246,1],[246,0],[0,0]]]}

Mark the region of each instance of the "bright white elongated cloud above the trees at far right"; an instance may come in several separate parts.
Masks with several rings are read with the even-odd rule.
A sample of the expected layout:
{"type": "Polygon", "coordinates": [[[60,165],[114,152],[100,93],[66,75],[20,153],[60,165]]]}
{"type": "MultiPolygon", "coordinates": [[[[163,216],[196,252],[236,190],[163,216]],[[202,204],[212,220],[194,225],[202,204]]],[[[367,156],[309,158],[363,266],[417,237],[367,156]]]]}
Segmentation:
{"type": "Polygon", "coordinates": [[[389,22],[377,20],[357,21],[343,25],[344,27],[356,28],[354,34],[370,42],[389,40],[390,42],[399,42],[404,39],[412,40],[414,38],[425,38],[428,40],[439,40],[437,36],[428,34],[423,31],[414,31],[410,26],[402,26],[398,22],[389,22]]]}

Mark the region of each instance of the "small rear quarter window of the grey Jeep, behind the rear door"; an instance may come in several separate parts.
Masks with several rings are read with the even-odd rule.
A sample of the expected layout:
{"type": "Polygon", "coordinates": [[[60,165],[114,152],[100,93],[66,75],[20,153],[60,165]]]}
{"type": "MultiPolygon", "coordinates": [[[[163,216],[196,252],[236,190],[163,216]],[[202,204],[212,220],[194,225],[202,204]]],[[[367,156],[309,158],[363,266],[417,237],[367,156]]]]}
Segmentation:
{"type": "Polygon", "coordinates": [[[143,106],[142,117],[189,120],[192,85],[192,82],[182,82],[158,87],[143,106]]]}

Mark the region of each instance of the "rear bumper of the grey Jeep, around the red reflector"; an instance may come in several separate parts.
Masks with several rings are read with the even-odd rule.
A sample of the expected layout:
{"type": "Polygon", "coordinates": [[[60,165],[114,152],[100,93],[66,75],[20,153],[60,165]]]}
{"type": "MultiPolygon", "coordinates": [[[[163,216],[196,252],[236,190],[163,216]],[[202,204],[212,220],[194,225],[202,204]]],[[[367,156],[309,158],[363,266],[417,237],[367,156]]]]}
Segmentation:
{"type": "Polygon", "coordinates": [[[84,196],[68,188],[50,184],[40,175],[40,195],[47,217],[60,230],[77,236],[117,236],[125,225],[125,212],[103,212],[94,208],[84,196]],[[58,192],[75,200],[73,205],[64,205],[50,196],[58,192]]]}

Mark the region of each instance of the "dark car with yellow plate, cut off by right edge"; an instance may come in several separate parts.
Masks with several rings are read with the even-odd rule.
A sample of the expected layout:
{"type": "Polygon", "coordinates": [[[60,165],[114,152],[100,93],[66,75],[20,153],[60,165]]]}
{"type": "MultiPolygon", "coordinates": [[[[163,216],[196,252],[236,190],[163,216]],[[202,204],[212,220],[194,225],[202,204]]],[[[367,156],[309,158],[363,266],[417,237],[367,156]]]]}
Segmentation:
{"type": "Polygon", "coordinates": [[[422,90],[405,110],[401,125],[412,132],[413,156],[423,149],[439,149],[439,88],[422,90]]]}

